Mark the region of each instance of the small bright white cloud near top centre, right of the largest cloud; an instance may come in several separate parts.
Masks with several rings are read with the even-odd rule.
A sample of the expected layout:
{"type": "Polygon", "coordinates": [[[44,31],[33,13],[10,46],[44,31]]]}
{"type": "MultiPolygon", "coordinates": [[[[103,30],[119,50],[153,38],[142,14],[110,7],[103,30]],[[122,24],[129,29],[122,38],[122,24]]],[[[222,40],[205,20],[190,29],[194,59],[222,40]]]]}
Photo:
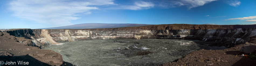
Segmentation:
{"type": "Polygon", "coordinates": [[[151,7],[154,7],[154,4],[151,2],[137,1],[134,2],[134,5],[121,5],[119,9],[141,10],[150,9],[151,7]]]}

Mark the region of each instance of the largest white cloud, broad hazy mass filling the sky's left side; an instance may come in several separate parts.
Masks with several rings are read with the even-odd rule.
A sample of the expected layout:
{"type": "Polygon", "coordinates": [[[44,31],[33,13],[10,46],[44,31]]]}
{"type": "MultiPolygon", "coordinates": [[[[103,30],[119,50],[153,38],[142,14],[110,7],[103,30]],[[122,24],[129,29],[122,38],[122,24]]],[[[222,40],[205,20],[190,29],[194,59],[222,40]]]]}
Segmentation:
{"type": "Polygon", "coordinates": [[[15,0],[9,3],[13,15],[45,24],[71,24],[79,15],[91,14],[96,6],[114,5],[113,0],[15,0]]]}

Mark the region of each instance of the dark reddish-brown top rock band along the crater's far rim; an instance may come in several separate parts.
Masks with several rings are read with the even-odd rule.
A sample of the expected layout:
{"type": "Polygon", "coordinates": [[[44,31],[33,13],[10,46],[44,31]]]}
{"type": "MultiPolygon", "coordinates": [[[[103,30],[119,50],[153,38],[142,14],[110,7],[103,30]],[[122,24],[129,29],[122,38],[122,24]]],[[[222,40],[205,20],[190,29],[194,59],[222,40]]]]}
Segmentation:
{"type": "Polygon", "coordinates": [[[193,25],[193,24],[162,24],[140,27],[83,29],[83,30],[180,30],[180,29],[237,29],[255,28],[256,25],[193,25]]]}

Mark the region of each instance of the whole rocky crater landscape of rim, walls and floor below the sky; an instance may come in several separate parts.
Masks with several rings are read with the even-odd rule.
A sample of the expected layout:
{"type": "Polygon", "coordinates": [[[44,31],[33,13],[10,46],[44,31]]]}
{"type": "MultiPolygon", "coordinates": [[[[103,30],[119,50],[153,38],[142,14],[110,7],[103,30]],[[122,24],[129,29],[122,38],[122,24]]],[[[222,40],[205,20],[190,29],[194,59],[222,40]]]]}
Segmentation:
{"type": "Polygon", "coordinates": [[[255,52],[255,27],[163,24],[1,30],[0,59],[43,66],[254,66],[255,60],[241,55],[255,52]]]}

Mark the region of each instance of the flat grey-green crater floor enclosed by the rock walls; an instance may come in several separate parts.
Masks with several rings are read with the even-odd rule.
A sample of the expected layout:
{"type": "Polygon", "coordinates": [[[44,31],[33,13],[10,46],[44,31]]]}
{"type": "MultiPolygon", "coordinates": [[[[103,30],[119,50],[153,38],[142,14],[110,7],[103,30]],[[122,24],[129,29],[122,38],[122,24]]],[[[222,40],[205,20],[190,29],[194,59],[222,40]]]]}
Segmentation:
{"type": "Polygon", "coordinates": [[[77,66],[155,66],[172,62],[199,49],[226,49],[217,42],[172,39],[85,40],[63,43],[50,45],[45,49],[60,53],[64,61],[77,66]]]}

